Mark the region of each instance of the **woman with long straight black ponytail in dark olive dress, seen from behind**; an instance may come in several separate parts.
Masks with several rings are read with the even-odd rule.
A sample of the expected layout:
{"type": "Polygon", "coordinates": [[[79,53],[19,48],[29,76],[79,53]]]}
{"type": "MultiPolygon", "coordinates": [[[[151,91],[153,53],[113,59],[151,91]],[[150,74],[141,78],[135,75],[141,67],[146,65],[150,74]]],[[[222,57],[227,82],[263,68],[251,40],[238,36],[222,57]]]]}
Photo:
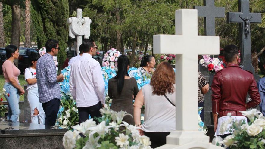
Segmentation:
{"type": "MultiPolygon", "coordinates": [[[[130,60],[126,56],[121,55],[117,63],[117,75],[108,82],[108,95],[112,98],[110,109],[117,112],[123,110],[133,115],[133,97],[138,93],[137,82],[128,75],[130,60]]],[[[129,115],[123,121],[134,125],[133,117],[129,115]]]]}

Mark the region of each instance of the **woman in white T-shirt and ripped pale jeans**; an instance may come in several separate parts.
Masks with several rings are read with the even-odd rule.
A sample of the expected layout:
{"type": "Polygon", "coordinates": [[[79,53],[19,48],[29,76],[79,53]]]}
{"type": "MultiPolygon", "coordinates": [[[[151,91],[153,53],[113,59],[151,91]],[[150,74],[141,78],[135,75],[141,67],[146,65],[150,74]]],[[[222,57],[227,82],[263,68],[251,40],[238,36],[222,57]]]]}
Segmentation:
{"type": "Polygon", "coordinates": [[[27,81],[28,101],[30,103],[31,123],[45,123],[45,112],[42,103],[39,102],[38,84],[36,78],[36,64],[40,58],[39,53],[31,52],[29,55],[30,67],[25,69],[25,80],[27,81]]]}

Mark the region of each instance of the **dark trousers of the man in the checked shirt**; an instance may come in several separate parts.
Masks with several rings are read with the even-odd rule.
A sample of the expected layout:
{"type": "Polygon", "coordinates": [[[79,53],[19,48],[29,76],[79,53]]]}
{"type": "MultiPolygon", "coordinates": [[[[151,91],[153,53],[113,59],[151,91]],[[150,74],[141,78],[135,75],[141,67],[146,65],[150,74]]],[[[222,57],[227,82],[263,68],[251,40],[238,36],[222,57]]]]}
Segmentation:
{"type": "Polygon", "coordinates": [[[42,108],[45,112],[45,125],[54,126],[57,118],[57,113],[60,107],[60,99],[53,98],[48,102],[42,103],[42,108]]]}

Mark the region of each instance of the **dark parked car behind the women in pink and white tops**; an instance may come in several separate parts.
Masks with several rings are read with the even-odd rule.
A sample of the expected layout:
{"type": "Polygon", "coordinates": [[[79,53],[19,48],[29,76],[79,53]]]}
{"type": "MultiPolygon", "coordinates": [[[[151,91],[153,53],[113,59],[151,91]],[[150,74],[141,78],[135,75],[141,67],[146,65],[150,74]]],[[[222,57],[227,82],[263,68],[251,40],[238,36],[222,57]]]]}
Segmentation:
{"type": "MultiPolygon", "coordinates": [[[[38,53],[38,51],[33,48],[19,47],[18,69],[20,70],[21,74],[24,74],[25,69],[28,67],[30,52],[38,53]]],[[[3,74],[2,65],[6,60],[5,48],[0,48],[0,59],[0,74],[3,74]]]]}

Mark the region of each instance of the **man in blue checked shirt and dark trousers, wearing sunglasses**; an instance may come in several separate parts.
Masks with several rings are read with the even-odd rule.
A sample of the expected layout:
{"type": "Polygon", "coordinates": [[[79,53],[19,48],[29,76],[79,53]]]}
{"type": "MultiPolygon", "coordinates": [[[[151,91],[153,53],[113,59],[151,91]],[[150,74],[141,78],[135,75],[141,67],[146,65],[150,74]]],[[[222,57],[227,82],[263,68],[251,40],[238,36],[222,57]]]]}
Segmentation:
{"type": "Polygon", "coordinates": [[[60,86],[64,77],[62,74],[57,76],[56,66],[53,56],[60,50],[58,41],[49,39],[46,44],[46,54],[39,58],[36,65],[39,102],[42,103],[45,112],[45,125],[54,126],[60,106],[60,86]]]}

